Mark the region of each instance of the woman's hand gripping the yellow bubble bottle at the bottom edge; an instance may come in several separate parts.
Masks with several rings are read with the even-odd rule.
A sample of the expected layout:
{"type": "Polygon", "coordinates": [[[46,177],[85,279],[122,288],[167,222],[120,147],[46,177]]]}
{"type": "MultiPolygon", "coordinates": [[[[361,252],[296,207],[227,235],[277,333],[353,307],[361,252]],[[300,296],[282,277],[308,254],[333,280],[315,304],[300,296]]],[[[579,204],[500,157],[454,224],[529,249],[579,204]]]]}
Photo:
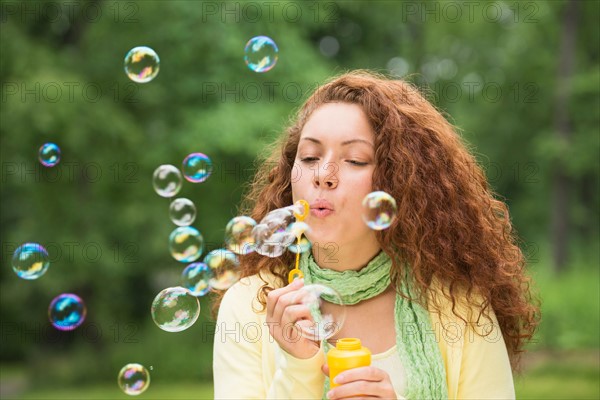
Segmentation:
{"type": "MultiPolygon", "coordinates": [[[[329,376],[329,367],[323,365],[323,373],[329,376]]],[[[328,399],[398,399],[390,376],[377,367],[359,367],[341,372],[335,378],[340,386],[327,392],[328,399]]],[[[401,397],[402,399],[402,397],[401,397]]]]}

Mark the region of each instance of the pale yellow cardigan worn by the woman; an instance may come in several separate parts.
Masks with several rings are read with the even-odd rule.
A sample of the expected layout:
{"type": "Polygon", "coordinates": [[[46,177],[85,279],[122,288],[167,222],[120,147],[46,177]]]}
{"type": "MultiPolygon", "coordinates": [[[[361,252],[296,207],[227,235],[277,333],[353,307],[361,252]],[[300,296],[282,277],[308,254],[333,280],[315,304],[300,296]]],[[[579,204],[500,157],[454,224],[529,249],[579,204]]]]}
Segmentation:
{"type": "MultiPolygon", "coordinates": [[[[273,282],[270,274],[262,274],[273,282]]],[[[263,281],[257,275],[232,286],[220,305],[213,347],[215,399],[320,399],[325,355],[320,350],[298,359],[270,336],[265,312],[256,299],[263,281]]],[[[442,297],[442,296],[440,296],[442,297]]],[[[462,315],[462,314],[461,314],[462,315]]],[[[512,371],[502,333],[493,324],[468,324],[445,304],[442,317],[430,312],[450,399],[514,399],[512,371]],[[478,332],[490,332],[482,337],[478,332]]],[[[482,318],[483,319],[483,318],[482,318]]]]}

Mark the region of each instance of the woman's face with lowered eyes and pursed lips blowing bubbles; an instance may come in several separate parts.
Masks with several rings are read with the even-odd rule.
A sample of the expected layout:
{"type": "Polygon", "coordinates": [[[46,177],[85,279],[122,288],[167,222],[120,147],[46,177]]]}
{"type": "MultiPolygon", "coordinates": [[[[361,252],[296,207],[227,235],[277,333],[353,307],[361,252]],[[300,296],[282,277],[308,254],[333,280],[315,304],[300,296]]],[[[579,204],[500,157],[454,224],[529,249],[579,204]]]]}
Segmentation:
{"type": "Polygon", "coordinates": [[[378,248],[363,222],[362,200],[373,190],[374,132],[362,108],[327,103],[309,117],[300,134],[292,171],[292,196],[310,204],[305,222],[317,247],[378,248]],[[358,246],[358,247],[347,247],[358,246]]]}

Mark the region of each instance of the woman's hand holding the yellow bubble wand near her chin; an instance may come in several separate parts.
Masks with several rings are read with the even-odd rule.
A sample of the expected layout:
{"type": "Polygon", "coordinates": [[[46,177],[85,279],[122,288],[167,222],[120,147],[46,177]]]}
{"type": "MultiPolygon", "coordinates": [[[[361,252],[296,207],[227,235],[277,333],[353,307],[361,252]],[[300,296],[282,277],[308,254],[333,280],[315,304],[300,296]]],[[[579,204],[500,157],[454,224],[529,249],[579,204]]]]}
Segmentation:
{"type": "Polygon", "coordinates": [[[302,304],[298,292],[304,286],[303,279],[269,292],[267,296],[267,325],[269,333],[283,350],[296,358],[311,358],[319,351],[319,343],[310,340],[296,322],[310,320],[308,306],[302,304]]]}

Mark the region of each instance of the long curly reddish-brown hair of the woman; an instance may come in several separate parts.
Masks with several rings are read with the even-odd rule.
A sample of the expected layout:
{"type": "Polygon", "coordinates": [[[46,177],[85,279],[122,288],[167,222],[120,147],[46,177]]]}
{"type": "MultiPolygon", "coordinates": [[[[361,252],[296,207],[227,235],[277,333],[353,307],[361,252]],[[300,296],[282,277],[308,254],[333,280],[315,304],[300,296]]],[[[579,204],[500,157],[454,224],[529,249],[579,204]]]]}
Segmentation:
{"type": "MultiPolygon", "coordinates": [[[[479,317],[490,318],[493,310],[516,367],[535,332],[539,307],[508,208],[494,197],[454,127],[413,85],[354,71],[319,87],[260,166],[241,212],[260,221],[269,211],[292,204],[300,133],[317,107],[332,102],[361,106],[375,132],[373,190],[391,194],[398,203],[395,222],[377,232],[382,250],[394,260],[392,283],[401,287],[408,265],[416,300],[426,302],[437,280],[461,319],[456,309],[465,298],[481,309],[479,317]]],[[[242,276],[267,270],[281,285],[293,264],[289,252],[279,258],[256,253],[241,257],[242,276]]],[[[257,294],[263,306],[272,289],[265,282],[257,294]]],[[[215,307],[219,303],[217,298],[215,307]]]]}

